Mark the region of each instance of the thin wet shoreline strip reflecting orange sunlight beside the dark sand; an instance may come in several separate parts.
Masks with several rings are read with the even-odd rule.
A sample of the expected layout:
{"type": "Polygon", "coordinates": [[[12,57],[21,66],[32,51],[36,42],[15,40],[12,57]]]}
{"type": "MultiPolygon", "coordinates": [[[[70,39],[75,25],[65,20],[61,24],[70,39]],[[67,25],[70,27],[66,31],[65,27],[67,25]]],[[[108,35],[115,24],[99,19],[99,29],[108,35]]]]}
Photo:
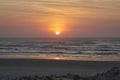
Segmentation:
{"type": "Polygon", "coordinates": [[[58,56],[58,55],[47,55],[47,54],[40,54],[40,55],[0,55],[0,59],[43,59],[43,60],[65,60],[65,61],[120,61],[120,56],[98,56],[98,57],[90,57],[90,56],[80,56],[80,57],[65,57],[65,56],[58,56]]]}

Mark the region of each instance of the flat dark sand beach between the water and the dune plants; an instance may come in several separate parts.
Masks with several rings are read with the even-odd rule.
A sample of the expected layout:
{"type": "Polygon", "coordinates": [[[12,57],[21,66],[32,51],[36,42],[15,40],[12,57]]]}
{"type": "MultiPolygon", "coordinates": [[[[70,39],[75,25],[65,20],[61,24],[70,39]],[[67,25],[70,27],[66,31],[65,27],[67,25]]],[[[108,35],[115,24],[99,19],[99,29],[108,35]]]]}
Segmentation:
{"type": "Polygon", "coordinates": [[[65,61],[41,59],[0,59],[0,75],[80,74],[93,75],[120,67],[120,61],[65,61]]]}

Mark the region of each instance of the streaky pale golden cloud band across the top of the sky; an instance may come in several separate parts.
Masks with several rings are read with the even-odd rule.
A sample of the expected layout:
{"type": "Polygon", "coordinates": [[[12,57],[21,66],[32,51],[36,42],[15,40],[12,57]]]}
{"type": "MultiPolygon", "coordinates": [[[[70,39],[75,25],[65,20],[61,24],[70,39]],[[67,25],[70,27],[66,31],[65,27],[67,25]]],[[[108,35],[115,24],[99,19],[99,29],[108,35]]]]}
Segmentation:
{"type": "Polygon", "coordinates": [[[80,13],[81,10],[119,12],[119,0],[4,0],[2,14],[51,16],[80,13]],[[72,12],[73,11],[73,12],[72,12]]]}

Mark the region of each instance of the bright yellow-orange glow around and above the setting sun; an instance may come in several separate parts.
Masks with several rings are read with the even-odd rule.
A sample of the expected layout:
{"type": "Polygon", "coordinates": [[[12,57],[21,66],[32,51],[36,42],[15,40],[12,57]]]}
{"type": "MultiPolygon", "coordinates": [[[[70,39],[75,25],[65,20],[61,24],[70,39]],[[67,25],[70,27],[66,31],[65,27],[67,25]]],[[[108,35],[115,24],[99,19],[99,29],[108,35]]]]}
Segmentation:
{"type": "MultiPolygon", "coordinates": [[[[49,21],[49,30],[56,36],[66,31],[67,21],[62,16],[51,16],[49,21]]],[[[61,35],[62,36],[62,35],[61,35]]]]}

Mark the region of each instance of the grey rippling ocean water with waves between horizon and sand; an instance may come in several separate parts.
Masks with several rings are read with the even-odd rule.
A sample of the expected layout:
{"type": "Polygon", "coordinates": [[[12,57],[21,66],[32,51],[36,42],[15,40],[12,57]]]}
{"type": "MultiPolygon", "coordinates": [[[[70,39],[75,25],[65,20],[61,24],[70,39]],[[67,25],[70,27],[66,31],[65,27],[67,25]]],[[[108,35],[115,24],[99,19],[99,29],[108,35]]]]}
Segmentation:
{"type": "Polygon", "coordinates": [[[120,60],[120,38],[0,38],[3,56],[120,60]]]}

